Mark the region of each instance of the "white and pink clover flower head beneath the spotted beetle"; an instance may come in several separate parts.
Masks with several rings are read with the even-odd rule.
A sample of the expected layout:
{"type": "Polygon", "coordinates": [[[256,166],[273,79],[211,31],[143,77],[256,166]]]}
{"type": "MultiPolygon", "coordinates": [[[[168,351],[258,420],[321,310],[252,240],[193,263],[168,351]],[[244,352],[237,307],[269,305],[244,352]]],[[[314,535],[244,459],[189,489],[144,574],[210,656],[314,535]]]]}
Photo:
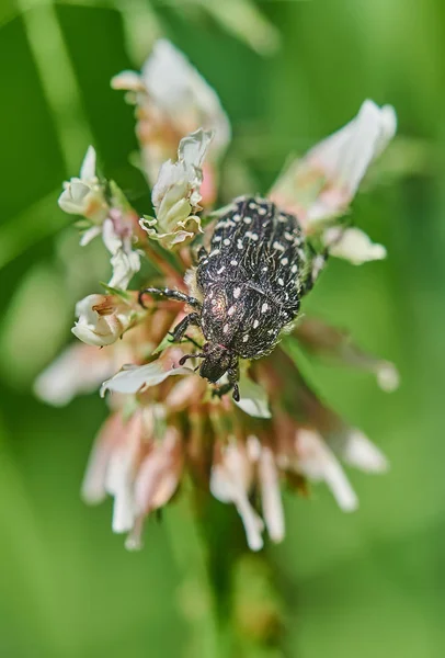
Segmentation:
{"type": "MultiPolygon", "coordinates": [[[[201,329],[191,326],[175,341],[173,333],[186,316],[186,287],[195,294],[193,240],[204,231],[205,241],[212,230],[212,225],[202,228],[197,214],[202,202],[206,205],[205,158],[215,166],[229,124],[215,92],[166,41],[158,42],[141,76],[121,73],[113,86],[136,94],[156,217],[139,226],[117,185],[96,177],[90,148],[80,178],[66,184],[59,205],[90,222],[87,239],[102,235],[116,290],[79,302],[72,331],[87,344],[69,348],[36,382],[37,395],[52,404],[101,384],[110,405],[83,498],[95,503],[113,497],[113,531],[127,534],[130,549],[142,544],[145,519],[168,506],[190,479],[235,506],[252,551],[262,548],[265,532],[273,542],[285,536],[284,484],[307,495],[308,483],[324,483],[343,511],[355,510],[358,498],[342,462],[377,474],[387,469],[387,460],[308,386],[289,355],[292,344],[366,370],[387,392],[398,385],[397,370],[364,352],[345,331],[304,317],[271,354],[241,363],[239,399],[213,397],[187,353],[202,345],[201,329]],[[175,288],[181,304],[150,297],[156,288],[139,294],[138,304],[138,291],[126,291],[142,257],[158,270],[150,283],[175,288]],[[184,365],[186,359],[191,365],[184,365]]],[[[331,254],[355,264],[384,258],[385,249],[347,226],[343,215],[395,129],[392,107],[366,101],[355,120],[290,164],[270,198],[295,214],[305,236],[331,254]]]]}

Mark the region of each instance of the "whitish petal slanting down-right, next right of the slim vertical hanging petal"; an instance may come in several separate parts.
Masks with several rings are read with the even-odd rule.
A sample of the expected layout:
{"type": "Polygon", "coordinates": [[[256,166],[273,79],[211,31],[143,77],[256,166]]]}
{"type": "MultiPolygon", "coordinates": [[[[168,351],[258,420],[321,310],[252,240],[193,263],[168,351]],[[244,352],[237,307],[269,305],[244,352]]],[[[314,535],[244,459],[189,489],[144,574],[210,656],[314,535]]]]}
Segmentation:
{"type": "Polygon", "coordinates": [[[344,512],[357,509],[358,499],[355,491],[339,462],[317,432],[298,430],[296,451],[297,468],[303,475],[313,481],[324,481],[344,512]]]}

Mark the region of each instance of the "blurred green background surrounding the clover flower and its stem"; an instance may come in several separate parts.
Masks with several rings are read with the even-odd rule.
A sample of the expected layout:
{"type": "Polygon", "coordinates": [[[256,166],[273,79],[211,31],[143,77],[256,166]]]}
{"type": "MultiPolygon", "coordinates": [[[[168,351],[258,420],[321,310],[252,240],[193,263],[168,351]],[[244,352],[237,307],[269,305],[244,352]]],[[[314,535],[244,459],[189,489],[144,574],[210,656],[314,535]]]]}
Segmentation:
{"type": "MultiPolygon", "coordinates": [[[[92,395],[54,409],[32,394],[69,341],[75,302],[99,290],[106,268],[100,249],[80,250],[58,209],[61,181],[78,173],[92,143],[106,175],[138,207],[148,200],[128,163],[133,110],[110,79],[138,69],[159,33],[217,89],[233,125],[231,156],[260,191],[290,150],[343,125],[365,98],[399,116],[384,184],[354,203],[355,222],[389,258],[332,262],[306,309],[395,361],[402,385],[386,395],[363,374],[304,364],[391,470],[350,474],[361,499],[351,515],[321,486],[310,500],[286,497],[287,538],[265,551],[287,628],[283,654],[232,655],[444,656],[445,5],[256,7],[259,24],[254,5],[237,0],[0,5],[0,656],[224,655],[206,612],[203,548],[181,509],[149,523],[145,549],[129,554],[111,532],[110,501],[89,509],[79,499],[103,401],[92,395]]],[[[241,535],[236,512],[215,509],[241,535]]],[[[241,590],[249,587],[247,578],[241,590]]]]}

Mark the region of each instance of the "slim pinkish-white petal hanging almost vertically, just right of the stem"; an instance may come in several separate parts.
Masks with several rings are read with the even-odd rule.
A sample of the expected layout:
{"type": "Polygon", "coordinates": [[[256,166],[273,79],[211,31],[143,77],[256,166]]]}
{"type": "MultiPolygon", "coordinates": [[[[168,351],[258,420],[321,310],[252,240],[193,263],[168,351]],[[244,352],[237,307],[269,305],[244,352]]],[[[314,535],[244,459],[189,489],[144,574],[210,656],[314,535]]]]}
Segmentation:
{"type": "Polygon", "coordinates": [[[258,468],[263,518],[271,540],[278,543],[285,535],[283,500],[274,454],[267,445],[262,446],[258,468]]]}

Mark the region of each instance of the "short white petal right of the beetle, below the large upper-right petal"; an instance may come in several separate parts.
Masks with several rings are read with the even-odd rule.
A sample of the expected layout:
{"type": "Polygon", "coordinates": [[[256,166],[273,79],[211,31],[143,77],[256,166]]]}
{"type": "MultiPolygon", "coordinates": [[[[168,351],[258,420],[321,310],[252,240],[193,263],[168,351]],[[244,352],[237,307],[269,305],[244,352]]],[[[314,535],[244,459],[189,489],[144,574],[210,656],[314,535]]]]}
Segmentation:
{"type": "Polygon", "coordinates": [[[353,265],[386,258],[385,247],[373,242],[360,228],[352,227],[344,230],[340,227],[329,228],[324,231],[323,241],[329,247],[329,253],[343,258],[353,265]]]}

